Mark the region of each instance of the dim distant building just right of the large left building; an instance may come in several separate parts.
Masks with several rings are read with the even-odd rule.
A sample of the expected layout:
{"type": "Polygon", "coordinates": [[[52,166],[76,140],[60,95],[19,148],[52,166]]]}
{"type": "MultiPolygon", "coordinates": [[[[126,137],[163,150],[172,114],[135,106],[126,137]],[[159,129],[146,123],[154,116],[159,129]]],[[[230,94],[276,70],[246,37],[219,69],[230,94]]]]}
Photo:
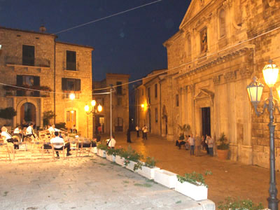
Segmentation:
{"type": "MultiPolygon", "coordinates": [[[[125,132],[129,127],[129,90],[130,75],[106,73],[102,81],[93,81],[93,98],[103,106],[102,113],[94,115],[94,127],[102,125],[102,131],[111,130],[111,94],[112,87],[112,132],[125,132]]],[[[95,128],[96,130],[96,128],[95,128]]]]}

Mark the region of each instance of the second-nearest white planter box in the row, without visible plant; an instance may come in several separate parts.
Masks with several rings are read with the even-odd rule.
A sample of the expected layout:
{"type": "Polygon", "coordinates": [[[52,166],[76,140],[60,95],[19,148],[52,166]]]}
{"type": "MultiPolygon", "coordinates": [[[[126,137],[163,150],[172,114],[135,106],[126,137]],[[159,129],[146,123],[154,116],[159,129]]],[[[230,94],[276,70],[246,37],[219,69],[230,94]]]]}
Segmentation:
{"type": "Polygon", "coordinates": [[[155,182],[166,186],[167,188],[175,188],[177,182],[177,174],[166,170],[155,170],[155,182]]]}

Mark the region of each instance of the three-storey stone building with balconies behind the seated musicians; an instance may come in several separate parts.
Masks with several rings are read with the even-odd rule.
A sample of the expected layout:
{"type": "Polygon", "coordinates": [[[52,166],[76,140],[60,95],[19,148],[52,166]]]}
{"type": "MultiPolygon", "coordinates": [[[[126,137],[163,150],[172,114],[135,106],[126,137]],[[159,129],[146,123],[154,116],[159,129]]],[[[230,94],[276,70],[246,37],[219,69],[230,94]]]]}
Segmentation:
{"type": "Polygon", "coordinates": [[[13,120],[1,119],[1,125],[33,122],[42,128],[43,113],[53,111],[56,117],[51,123],[66,123],[69,129],[76,125],[86,135],[83,107],[92,99],[93,48],[56,38],[44,32],[0,27],[0,81],[31,89],[1,85],[0,108],[17,111],[13,120]],[[69,99],[71,93],[76,96],[73,100],[69,99]]]}

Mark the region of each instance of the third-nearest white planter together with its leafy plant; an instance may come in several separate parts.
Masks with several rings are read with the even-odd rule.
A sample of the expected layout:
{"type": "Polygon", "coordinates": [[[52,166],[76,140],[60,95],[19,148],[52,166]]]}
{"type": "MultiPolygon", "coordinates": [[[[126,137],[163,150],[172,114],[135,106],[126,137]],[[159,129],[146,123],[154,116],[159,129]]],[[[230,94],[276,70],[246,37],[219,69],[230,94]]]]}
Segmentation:
{"type": "Polygon", "coordinates": [[[160,168],[155,167],[156,160],[155,158],[146,157],[145,162],[141,165],[141,169],[137,170],[137,173],[145,176],[148,179],[155,178],[155,171],[160,170],[160,168]]]}

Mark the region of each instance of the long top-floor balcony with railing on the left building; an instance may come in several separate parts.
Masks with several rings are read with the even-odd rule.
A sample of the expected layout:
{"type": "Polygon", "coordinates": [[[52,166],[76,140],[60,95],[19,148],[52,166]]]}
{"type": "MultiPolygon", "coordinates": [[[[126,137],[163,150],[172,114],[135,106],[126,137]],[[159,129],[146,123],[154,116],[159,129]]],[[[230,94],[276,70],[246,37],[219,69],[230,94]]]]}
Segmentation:
{"type": "Polygon", "coordinates": [[[26,58],[22,59],[22,57],[15,56],[6,56],[5,62],[7,66],[27,66],[27,67],[36,67],[36,68],[50,68],[50,60],[43,58],[26,58]]]}

